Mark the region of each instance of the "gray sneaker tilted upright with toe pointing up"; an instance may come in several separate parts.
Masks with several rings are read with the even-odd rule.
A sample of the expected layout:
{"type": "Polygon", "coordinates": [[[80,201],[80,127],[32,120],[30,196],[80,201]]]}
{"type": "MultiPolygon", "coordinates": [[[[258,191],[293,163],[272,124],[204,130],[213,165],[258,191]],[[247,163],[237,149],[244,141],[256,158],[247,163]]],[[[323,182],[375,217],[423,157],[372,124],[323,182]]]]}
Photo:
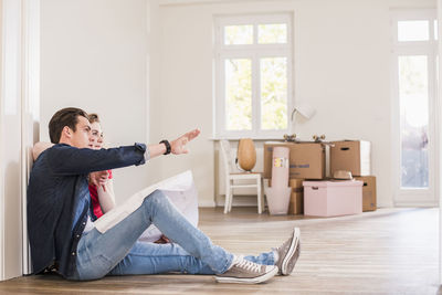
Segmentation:
{"type": "Polygon", "coordinates": [[[281,246],[275,249],[278,255],[276,266],[280,268],[280,275],[290,275],[293,272],[293,268],[295,268],[295,264],[301,252],[299,236],[299,228],[295,228],[292,236],[281,246]]]}

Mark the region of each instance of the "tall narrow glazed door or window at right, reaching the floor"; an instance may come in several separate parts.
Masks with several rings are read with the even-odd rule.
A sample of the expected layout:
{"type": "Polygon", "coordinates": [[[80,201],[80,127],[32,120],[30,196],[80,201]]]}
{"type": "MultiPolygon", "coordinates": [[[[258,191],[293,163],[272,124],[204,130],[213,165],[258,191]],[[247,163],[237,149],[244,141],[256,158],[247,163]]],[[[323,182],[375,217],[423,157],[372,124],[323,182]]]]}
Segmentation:
{"type": "Polygon", "coordinates": [[[397,202],[434,200],[434,97],[436,19],[434,10],[394,11],[393,73],[397,202]]]}

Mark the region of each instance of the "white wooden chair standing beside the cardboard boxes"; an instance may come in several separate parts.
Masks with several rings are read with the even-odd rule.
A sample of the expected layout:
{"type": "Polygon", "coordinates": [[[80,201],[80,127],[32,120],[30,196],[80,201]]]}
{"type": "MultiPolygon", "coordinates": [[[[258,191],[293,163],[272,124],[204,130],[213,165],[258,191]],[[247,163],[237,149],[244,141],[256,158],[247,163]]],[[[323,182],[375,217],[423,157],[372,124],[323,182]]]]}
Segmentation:
{"type": "Polygon", "coordinates": [[[236,188],[255,188],[257,194],[257,213],[262,213],[264,207],[264,197],[262,190],[262,181],[260,172],[238,172],[231,155],[231,148],[228,140],[220,140],[222,159],[224,162],[225,176],[225,203],[224,214],[232,210],[233,189],[236,188]],[[241,183],[242,180],[253,180],[254,183],[241,183]],[[240,180],[235,182],[235,180],[240,180]]]}

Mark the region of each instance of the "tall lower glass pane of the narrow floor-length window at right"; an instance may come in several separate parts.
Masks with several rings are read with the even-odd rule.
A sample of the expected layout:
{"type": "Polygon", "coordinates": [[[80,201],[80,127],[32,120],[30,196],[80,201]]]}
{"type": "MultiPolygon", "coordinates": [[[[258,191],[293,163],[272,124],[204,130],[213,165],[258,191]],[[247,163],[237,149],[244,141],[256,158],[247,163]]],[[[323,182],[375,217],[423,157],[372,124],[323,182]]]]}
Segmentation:
{"type": "Polygon", "coordinates": [[[399,56],[401,187],[429,187],[428,60],[399,56]]]}

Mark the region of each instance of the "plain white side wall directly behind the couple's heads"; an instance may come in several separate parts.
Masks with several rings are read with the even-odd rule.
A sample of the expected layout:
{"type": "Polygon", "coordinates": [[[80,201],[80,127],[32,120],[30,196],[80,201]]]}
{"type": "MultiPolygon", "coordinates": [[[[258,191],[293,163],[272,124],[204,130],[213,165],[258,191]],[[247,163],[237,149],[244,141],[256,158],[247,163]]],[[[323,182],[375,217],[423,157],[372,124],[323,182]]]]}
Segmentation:
{"type": "MultiPolygon", "coordinates": [[[[102,116],[110,146],[147,141],[150,4],[41,1],[42,140],[49,140],[48,123],[57,109],[77,106],[102,116]]],[[[117,202],[147,186],[149,173],[148,166],[116,169],[117,202]]]]}

